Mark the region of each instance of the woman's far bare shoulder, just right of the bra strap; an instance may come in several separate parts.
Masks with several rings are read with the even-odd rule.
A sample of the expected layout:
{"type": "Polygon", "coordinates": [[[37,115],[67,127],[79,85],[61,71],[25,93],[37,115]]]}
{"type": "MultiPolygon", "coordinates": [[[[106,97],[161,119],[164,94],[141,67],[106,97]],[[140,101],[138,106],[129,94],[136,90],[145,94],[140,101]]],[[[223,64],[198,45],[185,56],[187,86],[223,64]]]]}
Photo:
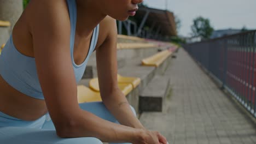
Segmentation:
{"type": "Polygon", "coordinates": [[[117,22],[110,16],[106,16],[100,22],[100,32],[96,47],[101,46],[109,37],[117,37],[117,22]]]}

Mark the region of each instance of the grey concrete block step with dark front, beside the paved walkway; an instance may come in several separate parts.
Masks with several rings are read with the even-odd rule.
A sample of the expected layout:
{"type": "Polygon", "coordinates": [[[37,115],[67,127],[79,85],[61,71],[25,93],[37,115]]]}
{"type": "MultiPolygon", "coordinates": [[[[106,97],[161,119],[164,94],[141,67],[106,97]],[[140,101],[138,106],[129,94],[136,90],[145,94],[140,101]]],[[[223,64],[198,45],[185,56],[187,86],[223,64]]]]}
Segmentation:
{"type": "Polygon", "coordinates": [[[168,94],[170,79],[166,76],[155,76],[139,94],[139,111],[162,111],[162,103],[168,94]]]}

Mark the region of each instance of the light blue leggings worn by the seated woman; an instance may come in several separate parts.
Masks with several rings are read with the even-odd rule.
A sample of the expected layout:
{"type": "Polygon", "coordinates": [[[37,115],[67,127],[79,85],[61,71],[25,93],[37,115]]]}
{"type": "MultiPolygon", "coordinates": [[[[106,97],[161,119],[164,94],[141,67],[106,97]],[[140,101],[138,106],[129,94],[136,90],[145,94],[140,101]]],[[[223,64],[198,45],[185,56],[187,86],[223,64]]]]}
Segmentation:
{"type": "MultiPolygon", "coordinates": [[[[102,102],[79,104],[81,109],[94,113],[94,115],[106,119],[107,121],[118,123],[117,119],[107,110],[102,102]]],[[[136,115],[131,106],[132,112],[136,115]]],[[[102,144],[94,137],[79,137],[71,139],[61,139],[56,135],[53,122],[49,116],[43,116],[37,121],[25,122],[5,115],[0,112],[0,143],[9,144],[102,144]],[[4,116],[4,117],[3,117],[4,116]],[[43,120],[42,120],[43,119],[43,120]],[[43,123],[40,121],[44,121],[43,123]],[[3,124],[11,123],[15,127],[3,127],[3,124]],[[20,124],[20,125],[19,125],[20,124]],[[40,125],[41,124],[41,125],[40,125]],[[29,125],[29,127],[27,127],[29,125]],[[20,126],[20,127],[19,127],[20,126]]],[[[123,143],[125,144],[125,143],[123,143]]],[[[127,143],[128,144],[128,143],[127,143]]]]}

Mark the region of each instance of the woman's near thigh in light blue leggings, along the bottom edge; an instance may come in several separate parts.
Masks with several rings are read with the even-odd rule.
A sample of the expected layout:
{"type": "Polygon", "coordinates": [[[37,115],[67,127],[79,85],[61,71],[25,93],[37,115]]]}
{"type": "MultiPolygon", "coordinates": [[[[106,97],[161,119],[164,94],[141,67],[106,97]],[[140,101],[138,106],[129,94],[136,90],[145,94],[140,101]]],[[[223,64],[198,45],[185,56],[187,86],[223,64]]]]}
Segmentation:
{"type": "Polygon", "coordinates": [[[0,128],[0,143],[10,144],[82,144],[102,142],[94,137],[79,137],[71,139],[61,139],[56,135],[55,130],[43,130],[21,127],[2,127],[0,128]]]}

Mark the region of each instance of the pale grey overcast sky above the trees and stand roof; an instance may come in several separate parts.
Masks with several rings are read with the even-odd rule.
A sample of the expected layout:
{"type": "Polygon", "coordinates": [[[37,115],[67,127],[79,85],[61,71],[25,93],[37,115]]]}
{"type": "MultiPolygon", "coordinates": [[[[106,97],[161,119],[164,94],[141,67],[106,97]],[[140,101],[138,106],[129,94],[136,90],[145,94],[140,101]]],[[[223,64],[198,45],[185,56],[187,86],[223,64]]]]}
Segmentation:
{"type": "MultiPolygon", "coordinates": [[[[166,0],[144,0],[149,7],[165,9],[166,0]]],[[[179,34],[189,36],[193,19],[203,16],[210,19],[214,29],[246,26],[256,29],[256,0],[167,0],[167,9],[181,19],[179,34]]]]}

